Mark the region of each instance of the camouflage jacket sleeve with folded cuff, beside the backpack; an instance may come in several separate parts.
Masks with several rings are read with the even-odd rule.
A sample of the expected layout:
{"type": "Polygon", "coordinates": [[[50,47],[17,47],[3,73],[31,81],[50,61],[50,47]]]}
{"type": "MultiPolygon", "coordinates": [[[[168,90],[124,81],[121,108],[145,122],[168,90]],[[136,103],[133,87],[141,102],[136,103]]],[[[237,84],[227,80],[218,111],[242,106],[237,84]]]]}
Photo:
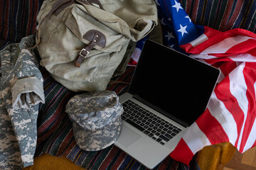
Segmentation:
{"type": "Polygon", "coordinates": [[[38,57],[34,50],[28,49],[33,45],[34,36],[23,38],[18,44],[20,52],[14,66],[17,81],[11,90],[14,92],[12,94],[14,103],[9,108],[23,166],[33,164],[33,155],[36,151],[38,103],[44,102],[45,98],[43,77],[38,69],[38,57]]]}

